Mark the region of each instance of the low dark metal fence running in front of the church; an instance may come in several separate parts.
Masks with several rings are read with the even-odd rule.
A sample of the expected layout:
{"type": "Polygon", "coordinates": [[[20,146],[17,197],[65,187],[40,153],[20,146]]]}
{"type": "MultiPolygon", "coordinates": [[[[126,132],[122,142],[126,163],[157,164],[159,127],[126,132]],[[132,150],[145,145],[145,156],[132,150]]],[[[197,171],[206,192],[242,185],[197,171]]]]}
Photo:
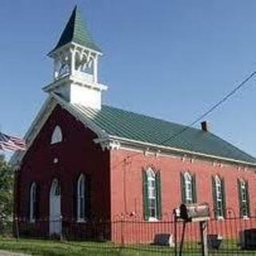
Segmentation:
{"type": "MultiPolygon", "coordinates": [[[[119,218],[113,222],[80,223],[62,219],[54,223],[16,219],[12,223],[14,236],[62,239],[62,242],[75,243],[75,246],[98,248],[101,254],[116,251],[120,255],[202,255],[198,222],[186,223],[182,254],[179,249],[183,222],[177,223],[176,236],[175,222],[168,219],[144,222],[119,218]],[[50,225],[54,223],[61,228],[58,234],[49,235],[50,225]]],[[[210,219],[207,222],[207,246],[210,255],[256,255],[256,217],[210,219]]]]}

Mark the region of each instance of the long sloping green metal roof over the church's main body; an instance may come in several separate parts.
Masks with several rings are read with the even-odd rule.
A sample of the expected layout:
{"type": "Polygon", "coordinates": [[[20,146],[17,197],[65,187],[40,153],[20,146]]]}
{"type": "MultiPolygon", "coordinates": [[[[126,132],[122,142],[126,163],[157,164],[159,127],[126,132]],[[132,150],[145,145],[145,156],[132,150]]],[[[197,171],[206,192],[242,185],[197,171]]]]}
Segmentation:
{"type": "Polygon", "coordinates": [[[102,110],[94,110],[77,104],[74,106],[91,122],[112,136],[241,162],[256,163],[256,158],[208,131],[188,128],[182,134],[175,136],[186,126],[111,106],[102,106],[102,110]],[[168,140],[168,138],[172,139],[168,140]]]}

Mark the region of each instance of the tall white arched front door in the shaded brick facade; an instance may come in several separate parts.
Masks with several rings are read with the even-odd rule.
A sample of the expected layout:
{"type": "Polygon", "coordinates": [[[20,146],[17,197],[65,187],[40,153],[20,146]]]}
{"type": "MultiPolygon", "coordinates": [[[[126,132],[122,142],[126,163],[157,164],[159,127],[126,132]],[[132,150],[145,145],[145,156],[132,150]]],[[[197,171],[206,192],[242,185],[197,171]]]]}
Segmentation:
{"type": "Polygon", "coordinates": [[[62,234],[61,188],[55,179],[50,188],[50,235],[62,234]]]}

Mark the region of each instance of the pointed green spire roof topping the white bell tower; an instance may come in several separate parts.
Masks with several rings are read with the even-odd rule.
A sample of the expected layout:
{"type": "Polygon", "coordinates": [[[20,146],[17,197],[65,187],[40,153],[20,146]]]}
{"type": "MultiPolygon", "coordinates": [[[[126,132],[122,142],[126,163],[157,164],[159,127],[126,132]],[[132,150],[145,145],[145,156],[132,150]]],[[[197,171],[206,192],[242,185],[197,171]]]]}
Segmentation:
{"type": "Polygon", "coordinates": [[[67,43],[75,42],[81,46],[86,46],[92,50],[101,52],[96,46],[94,40],[91,38],[86,23],[83,22],[82,14],[78,7],[75,6],[73,13],[71,14],[69,22],[67,22],[65,29],[62,32],[61,38],[58,40],[57,46],[54,47],[54,52],[58,48],[65,46],[67,43]]]}

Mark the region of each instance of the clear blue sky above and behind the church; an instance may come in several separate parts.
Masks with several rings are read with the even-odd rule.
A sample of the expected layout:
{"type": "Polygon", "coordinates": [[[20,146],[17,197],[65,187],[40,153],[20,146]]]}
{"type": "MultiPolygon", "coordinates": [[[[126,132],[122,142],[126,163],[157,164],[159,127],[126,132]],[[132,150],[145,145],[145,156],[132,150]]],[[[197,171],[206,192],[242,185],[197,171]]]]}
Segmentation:
{"type": "MultiPolygon", "coordinates": [[[[108,105],[188,124],[256,70],[254,0],[2,0],[2,132],[22,137],[45,101],[46,54],[76,4],[104,52],[108,105]]],[[[206,118],[211,132],[254,156],[255,83],[206,118]]]]}

